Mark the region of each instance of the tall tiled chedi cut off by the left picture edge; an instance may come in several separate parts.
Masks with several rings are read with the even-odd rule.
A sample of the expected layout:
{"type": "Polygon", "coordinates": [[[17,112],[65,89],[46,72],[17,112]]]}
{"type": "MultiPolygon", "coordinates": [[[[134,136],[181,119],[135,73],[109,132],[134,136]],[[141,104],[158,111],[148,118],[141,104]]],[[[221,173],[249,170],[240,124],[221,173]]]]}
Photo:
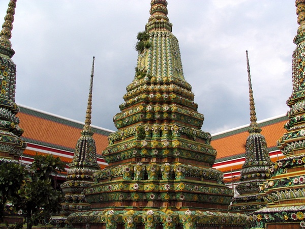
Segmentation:
{"type": "Polygon", "coordinates": [[[20,136],[23,133],[16,117],[19,107],[15,103],[16,65],[12,61],[15,51],[10,39],[16,1],[11,0],[0,33],[0,158],[1,160],[18,160],[26,148],[20,136]]]}

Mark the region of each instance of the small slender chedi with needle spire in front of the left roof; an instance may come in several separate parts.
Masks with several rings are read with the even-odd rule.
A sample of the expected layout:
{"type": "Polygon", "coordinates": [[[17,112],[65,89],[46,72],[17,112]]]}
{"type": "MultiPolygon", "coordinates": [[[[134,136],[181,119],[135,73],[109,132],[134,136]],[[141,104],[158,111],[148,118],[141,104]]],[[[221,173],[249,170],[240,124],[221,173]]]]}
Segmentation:
{"type": "MultiPolygon", "coordinates": [[[[93,139],[94,133],[90,126],[94,60],[93,58],[85,125],[81,131],[81,137],[77,141],[73,160],[69,164],[67,181],[60,186],[65,193],[65,202],[62,204],[65,215],[76,210],[90,209],[90,204],[85,199],[84,190],[91,187],[94,181],[93,174],[100,169],[97,161],[96,144],[93,139]]],[[[55,217],[54,219],[59,220],[55,217]]]]}

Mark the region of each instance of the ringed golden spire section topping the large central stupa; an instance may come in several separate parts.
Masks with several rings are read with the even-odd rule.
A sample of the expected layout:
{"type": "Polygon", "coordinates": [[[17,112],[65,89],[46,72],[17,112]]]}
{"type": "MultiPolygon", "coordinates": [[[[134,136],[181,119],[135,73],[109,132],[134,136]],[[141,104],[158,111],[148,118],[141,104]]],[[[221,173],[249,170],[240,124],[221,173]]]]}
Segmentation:
{"type": "Polygon", "coordinates": [[[167,1],[151,0],[150,6],[150,17],[146,24],[146,32],[148,33],[156,30],[172,32],[172,24],[167,17],[167,1]]]}

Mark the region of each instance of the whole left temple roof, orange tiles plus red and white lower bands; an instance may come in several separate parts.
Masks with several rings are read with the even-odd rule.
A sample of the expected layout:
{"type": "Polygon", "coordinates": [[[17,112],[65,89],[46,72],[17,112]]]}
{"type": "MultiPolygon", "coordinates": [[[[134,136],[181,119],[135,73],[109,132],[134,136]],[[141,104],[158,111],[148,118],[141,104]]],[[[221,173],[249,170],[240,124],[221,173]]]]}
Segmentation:
{"type": "MultiPolygon", "coordinates": [[[[67,164],[72,161],[75,144],[85,125],[83,122],[57,116],[42,110],[20,105],[18,117],[22,120],[21,127],[25,129],[23,139],[27,149],[23,152],[22,161],[31,163],[38,154],[54,154],[67,164]]],[[[108,135],[113,131],[98,126],[92,126],[98,162],[101,167],[106,163],[101,158],[101,152],[108,144],[108,135]]]]}

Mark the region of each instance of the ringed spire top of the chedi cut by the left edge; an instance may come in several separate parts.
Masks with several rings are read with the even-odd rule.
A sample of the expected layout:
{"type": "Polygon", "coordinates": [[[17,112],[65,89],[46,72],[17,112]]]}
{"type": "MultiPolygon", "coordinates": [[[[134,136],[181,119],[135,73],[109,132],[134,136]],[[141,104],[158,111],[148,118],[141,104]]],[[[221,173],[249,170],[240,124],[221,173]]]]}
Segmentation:
{"type": "Polygon", "coordinates": [[[2,25],[2,31],[0,32],[0,52],[9,55],[10,58],[15,53],[15,51],[12,49],[10,39],[12,37],[16,1],[17,0],[10,1],[7,15],[5,16],[5,21],[2,25]]]}

